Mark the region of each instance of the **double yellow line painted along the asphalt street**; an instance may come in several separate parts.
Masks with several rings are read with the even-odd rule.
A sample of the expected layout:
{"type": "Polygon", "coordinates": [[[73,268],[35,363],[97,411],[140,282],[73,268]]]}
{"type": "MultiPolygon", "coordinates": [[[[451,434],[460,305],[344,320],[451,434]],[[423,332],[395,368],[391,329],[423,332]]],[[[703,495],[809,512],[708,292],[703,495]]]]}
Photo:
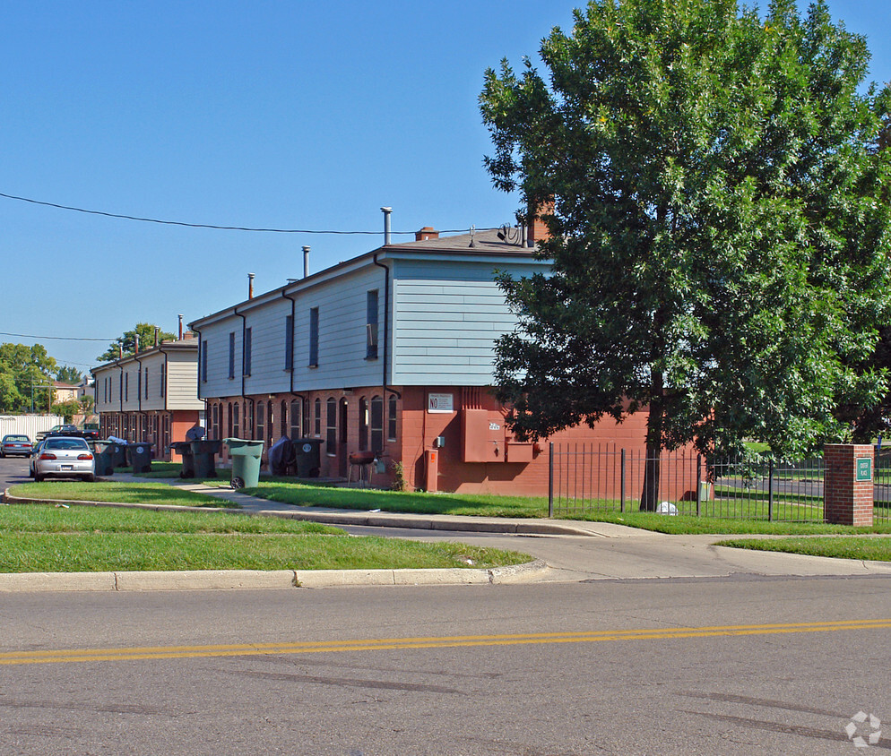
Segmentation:
{"type": "Polygon", "coordinates": [[[256,657],[272,654],[320,654],[394,649],[448,649],[473,646],[516,646],[544,643],[598,643],[609,640],[673,640],[681,638],[715,638],[722,636],[776,635],[798,632],[875,630],[889,627],[891,627],[891,619],[839,620],[823,623],[742,624],[715,625],[709,627],[540,632],[496,635],[446,635],[441,637],[385,638],[369,640],[306,640],[291,643],[149,646],[133,649],[6,651],[0,653],[0,665],[132,661],[135,659],[256,657]]]}

